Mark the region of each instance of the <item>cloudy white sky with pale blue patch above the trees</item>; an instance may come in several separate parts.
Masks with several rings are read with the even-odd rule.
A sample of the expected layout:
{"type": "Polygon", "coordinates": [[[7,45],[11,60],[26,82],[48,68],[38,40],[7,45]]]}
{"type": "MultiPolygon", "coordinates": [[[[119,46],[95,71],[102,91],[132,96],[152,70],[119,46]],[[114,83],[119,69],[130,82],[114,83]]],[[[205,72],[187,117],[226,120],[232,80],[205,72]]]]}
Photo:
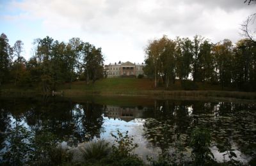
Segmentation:
{"type": "Polygon", "coordinates": [[[244,0],[0,0],[0,33],[10,45],[24,42],[22,56],[33,55],[33,40],[78,37],[101,47],[105,64],[143,63],[150,40],[163,34],[213,43],[236,43],[241,24],[256,4],[244,0]]]}

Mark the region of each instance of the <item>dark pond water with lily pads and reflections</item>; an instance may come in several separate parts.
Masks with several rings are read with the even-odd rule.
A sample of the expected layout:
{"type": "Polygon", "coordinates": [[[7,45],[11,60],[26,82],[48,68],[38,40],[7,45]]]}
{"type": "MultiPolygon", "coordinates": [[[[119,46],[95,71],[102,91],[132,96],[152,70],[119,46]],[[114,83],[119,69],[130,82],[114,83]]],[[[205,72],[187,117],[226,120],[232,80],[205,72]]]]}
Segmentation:
{"type": "Polygon", "coordinates": [[[108,97],[76,101],[57,96],[1,98],[1,162],[26,160],[31,151],[51,146],[51,141],[68,146],[96,138],[111,142],[110,133],[117,129],[134,137],[141,158],[156,158],[167,149],[189,160],[190,134],[198,127],[210,131],[216,161],[247,163],[256,156],[255,103],[119,97],[117,102],[108,97]],[[230,151],[236,156],[228,157],[230,151]]]}

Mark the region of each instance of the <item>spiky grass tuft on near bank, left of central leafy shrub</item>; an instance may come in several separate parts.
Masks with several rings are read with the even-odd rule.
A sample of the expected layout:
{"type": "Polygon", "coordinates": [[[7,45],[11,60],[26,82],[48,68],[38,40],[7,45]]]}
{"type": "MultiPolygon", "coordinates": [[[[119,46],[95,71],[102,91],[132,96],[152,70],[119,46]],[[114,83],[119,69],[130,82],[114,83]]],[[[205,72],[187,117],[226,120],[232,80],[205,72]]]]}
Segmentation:
{"type": "Polygon", "coordinates": [[[104,140],[94,140],[88,142],[83,147],[80,148],[83,153],[84,159],[86,160],[100,160],[109,155],[111,151],[108,143],[104,140]]]}

